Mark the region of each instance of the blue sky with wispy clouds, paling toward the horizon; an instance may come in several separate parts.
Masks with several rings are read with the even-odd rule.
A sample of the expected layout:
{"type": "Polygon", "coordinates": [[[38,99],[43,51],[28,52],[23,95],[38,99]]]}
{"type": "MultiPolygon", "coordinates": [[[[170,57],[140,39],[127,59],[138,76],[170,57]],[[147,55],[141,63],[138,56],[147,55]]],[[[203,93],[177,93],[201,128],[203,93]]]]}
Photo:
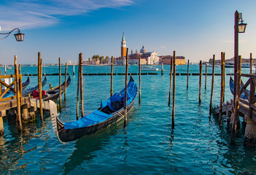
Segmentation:
{"type": "MultiPolygon", "coordinates": [[[[1,33],[20,28],[24,42],[11,34],[0,40],[0,63],[75,61],[79,52],[120,56],[123,32],[129,52],[183,55],[190,62],[212,55],[233,58],[233,21],[243,13],[247,31],[239,34],[239,55],[256,57],[256,1],[236,0],[0,0],[1,33]]],[[[14,32],[15,34],[15,32],[14,32]]],[[[1,35],[2,36],[2,35],[1,35]]]]}

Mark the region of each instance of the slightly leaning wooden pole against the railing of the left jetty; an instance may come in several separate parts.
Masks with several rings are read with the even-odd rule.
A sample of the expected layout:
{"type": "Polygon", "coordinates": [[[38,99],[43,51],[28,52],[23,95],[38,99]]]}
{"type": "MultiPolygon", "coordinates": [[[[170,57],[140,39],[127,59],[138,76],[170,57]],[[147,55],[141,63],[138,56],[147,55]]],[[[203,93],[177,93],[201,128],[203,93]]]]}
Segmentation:
{"type": "Polygon", "coordinates": [[[18,66],[17,66],[17,55],[15,55],[15,90],[16,90],[16,100],[17,100],[17,114],[18,114],[18,128],[22,130],[22,123],[21,123],[21,115],[20,115],[20,88],[19,87],[19,74],[18,74],[18,66]]]}

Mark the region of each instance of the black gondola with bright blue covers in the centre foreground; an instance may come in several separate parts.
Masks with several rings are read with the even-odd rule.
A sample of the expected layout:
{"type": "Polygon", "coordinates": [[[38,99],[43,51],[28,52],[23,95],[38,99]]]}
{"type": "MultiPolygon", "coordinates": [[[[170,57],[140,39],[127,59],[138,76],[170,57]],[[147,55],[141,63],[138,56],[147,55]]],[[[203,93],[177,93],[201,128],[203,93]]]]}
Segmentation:
{"type": "MultiPolygon", "coordinates": [[[[127,114],[133,108],[136,92],[137,85],[131,77],[127,87],[127,114]]],[[[53,114],[52,123],[57,126],[58,140],[61,143],[73,141],[117,123],[123,118],[125,112],[124,98],[125,88],[120,93],[115,93],[107,101],[101,100],[101,106],[98,109],[74,122],[63,123],[57,115],[53,114]]]]}

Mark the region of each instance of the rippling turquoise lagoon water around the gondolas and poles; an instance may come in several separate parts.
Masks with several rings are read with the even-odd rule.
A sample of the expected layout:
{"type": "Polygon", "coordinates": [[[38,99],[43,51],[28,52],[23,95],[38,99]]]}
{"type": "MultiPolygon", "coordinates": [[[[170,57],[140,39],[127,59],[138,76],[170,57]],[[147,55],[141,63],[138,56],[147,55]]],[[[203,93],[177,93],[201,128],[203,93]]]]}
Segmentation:
{"type": "MultiPolygon", "coordinates": [[[[44,123],[36,116],[34,123],[23,125],[21,133],[4,117],[5,133],[0,137],[0,174],[256,173],[256,151],[243,147],[244,131],[238,132],[236,144],[231,145],[226,123],[220,126],[215,117],[209,116],[212,76],[207,76],[206,90],[205,77],[202,77],[201,105],[198,104],[199,77],[189,77],[188,90],[187,76],[176,77],[175,128],[171,129],[169,67],[164,66],[163,77],[160,71],[158,75],[141,75],[141,105],[138,95],[134,109],[128,115],[126,128],[121,121],[100,133],[61,144],[53,133],[47,112],[44,112],[44,123]]],[[[137,68],[129,66],[129,72],[138,72],[137,68]]],[[[63,66],[62,72],[64,69],[63,66]]],[[[226,69],[226,73],[232,71],[226,69]]],[[[22,67],[21,72],[36,74],[37,67],[22,67]]],[[[58,73],[58,66],[44,67],[43,72],[58,73]]],[[[68,67],[68,72],[72,75],[73,66],[68,67]]],[[[115,66],[114,72],[125,72],[125,66],[115,66]]],[[[177,66],[177,72],[186,73],[187,66],[177,66]]],[[[198,65],[190,66],[190,73],[193,72],[199,72],[198,65]]],[[[242,72],[248,73],[249,69],[242,69],[242,72]]],[[[7,70],[7,74],[12,73],[13,69],[7,70]]],[[[83,73],[110,73],[110,66],[83,66],[83,73]]],[[[208,68],[208,73],[212,73],[212,68],[208,68]]],[[[220,73],[220,68],[216,68],[215,73],[220,73]]],[[[67,101],[63,101],[65,106],[60,115],[63,121],[76,120],[77,75],[71,77],[67,101]]],[[[214,78],[213,105],[219,105],[220,76],[214,78]]],[[[58,76],[47,76],[47,79],[53,87],[58,85],[58,76]]],[[[133,79],[139,86],[139,76],[134,75],[133,79]]],[[[23,81],[26,81],[26,76],[23,81]]],[[[110,76],[83,76],[83,81],[84,109],[85,114],[89,114],[98,108],[101,99],[109,98],[110,76]]],[[[228,100],[232,98],[229,76],[225,77],[225,82],[225,100],[228,100]]],[[[31,85],[36,83],[37,77],[31,77],[31,85]]],[[[125,76],[114,76],[114,93],[124,84],[125,76]]],[[[47,88],[48,85],[44,90],[47,88]]],[[[226,117],[223,118],[225,121],[226,117]]]]}

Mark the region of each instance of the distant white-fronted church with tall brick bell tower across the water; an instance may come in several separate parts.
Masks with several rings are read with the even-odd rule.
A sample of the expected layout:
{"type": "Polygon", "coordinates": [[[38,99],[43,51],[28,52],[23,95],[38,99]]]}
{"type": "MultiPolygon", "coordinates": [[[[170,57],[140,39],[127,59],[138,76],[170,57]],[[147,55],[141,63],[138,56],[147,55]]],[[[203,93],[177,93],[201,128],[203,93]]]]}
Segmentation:
{"type": "MultiPolygon", "coordinates": [[[[121,41],[121,57],[116,58],[117,64],[125,64],[125,57],[126,57],[126,42],[125,36],[123,33],[123,38],[121,41]]],[[[142,46],[140,52],[138,53],[137,50],[133,53],[131,50],[131,54],[128,55],[128,63],[129,64],[139,64],[139,58],[141,58],[141,64],[159,64],[159,57],[158,52],[147,52],[147,50],[142,46]]]]}

